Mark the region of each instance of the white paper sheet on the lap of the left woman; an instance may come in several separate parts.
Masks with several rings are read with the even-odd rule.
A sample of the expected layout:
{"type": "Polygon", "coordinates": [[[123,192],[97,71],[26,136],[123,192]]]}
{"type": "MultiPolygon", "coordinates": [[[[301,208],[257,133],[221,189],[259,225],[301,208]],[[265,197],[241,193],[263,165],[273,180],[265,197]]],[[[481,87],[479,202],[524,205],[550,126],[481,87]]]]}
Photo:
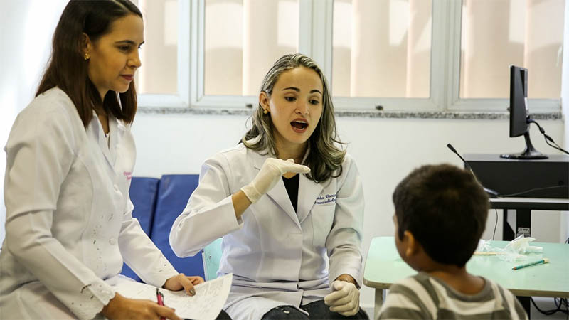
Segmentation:
{"type": "MultiPolygon", "coordinates": [[[[231,288],[233,274],[198,284],[194,289],[195,296],[188,296],[186,292],[169,291],[160,288],[164,294],[164,305],[176,309],[176,314],[181,318],[193,320],[216,319],[231,288]]],[[[115,286],[119,294],[132,299],[148,299],[156,301],[156,287],[140,282],[121,282],[115,286]]]]}

